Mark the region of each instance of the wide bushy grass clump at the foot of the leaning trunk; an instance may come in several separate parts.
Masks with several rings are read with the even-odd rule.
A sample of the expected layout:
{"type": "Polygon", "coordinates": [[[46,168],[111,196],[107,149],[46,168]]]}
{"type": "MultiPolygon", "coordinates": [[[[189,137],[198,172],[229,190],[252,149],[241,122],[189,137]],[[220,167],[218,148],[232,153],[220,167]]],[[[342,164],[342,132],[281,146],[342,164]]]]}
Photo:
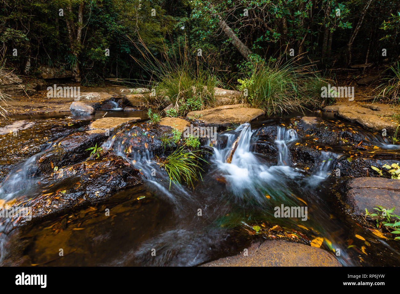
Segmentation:
{"type": "Polygon", "coordinates": [[[313,64],[296,64],[296,60],[258,61],[247,66],[246,77],[239,79],[238,90],[244,102],[278,114],[307,107],[321,107],[330,101],[321,97],[327,82],[314,70],[313,64]],[[246,93],[245,93],[246,91],[246,93]]]}

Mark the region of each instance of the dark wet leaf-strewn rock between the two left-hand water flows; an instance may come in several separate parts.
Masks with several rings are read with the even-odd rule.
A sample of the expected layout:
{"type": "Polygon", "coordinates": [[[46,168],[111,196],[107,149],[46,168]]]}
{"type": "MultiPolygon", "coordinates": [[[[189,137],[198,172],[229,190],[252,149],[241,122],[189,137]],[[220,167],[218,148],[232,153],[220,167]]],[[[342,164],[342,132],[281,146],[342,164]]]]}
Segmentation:
{"type": "Polygon", "coordinates": [[[59,179],[54,188],[26,204],[32,207],[33,222],[89,206],[140,184],[139,171],[114,155],[68,166],[54,172],[53,176],[59,179]]]}

